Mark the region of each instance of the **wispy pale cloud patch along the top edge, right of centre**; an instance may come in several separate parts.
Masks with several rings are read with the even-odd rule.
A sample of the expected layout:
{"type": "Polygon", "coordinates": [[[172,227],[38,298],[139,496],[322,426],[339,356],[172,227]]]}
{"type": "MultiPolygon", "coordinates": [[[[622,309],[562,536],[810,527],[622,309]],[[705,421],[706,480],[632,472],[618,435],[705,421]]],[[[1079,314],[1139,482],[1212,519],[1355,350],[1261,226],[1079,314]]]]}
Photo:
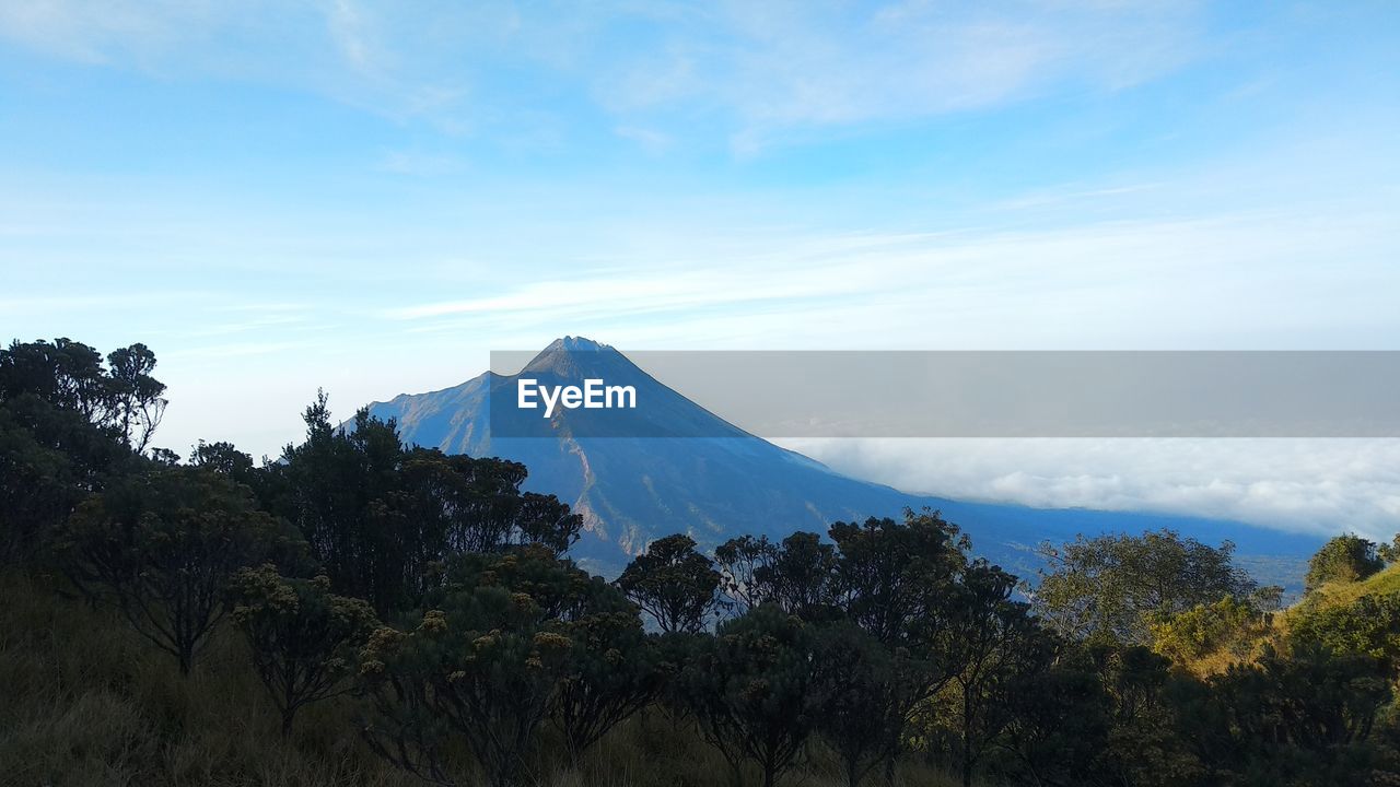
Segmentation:
{"type": "Polygon", "coordinates": [[[1194,3],[728,3],[605,71],[619,112],[693,104],[753,151],[785,129],[923,118],[1060,83],[1123,90],[1204,48],[1194,3]]]}

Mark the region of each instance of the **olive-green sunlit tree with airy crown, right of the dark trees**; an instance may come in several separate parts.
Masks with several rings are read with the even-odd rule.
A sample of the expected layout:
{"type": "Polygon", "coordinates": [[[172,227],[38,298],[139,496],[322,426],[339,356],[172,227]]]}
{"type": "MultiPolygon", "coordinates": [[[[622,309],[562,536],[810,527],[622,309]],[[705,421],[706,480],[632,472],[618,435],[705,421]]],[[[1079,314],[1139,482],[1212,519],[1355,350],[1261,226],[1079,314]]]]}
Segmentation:
{"type": "Polygon", "coordinates": [[[1254,592],[1254,581],[1232,563],[1233,550],[1231,542],[1212,548],[1169,529],[1042,545],[1049,571],[1035,590],[1036,611],[1071,639],[1147,644],[1152,620],[1254,592]]]}

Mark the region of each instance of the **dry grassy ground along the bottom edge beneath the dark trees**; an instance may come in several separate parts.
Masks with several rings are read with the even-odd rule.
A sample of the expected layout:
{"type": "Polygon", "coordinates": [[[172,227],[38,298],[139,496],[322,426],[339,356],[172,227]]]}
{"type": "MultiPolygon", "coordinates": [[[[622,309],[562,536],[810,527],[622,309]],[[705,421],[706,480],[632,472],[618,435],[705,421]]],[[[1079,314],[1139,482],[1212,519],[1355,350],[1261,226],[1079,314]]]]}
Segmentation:
{"type": "MultiPolygon", "coordinates": [[[[423,781],[377,758],[356,734],[354,702],[307,707],[290,739],[235,632],[221,630],[182,678],[175,660],[112,613],[52,584],[0,573],[0,786],[407,787],[423,781]]],[[[542,749],[557,751],[546,732],[542,749]]],[[[729,767],[687,721],[657,709],[603,738],[578,770],[539,755],[539,787],[732,787],[729,767]]],[[[461,784],[476,784],[462,765],[461,784]]],[[[757,784],[756,770],[745,781],[757,784]]],[[[867,784],[879,779],[868,777],[867,784]]],[[[945,772],[902,762],[900,787],[952,787],[945,772]]],[[[820,749],[785,787],[839,787],[820,749]]]]}

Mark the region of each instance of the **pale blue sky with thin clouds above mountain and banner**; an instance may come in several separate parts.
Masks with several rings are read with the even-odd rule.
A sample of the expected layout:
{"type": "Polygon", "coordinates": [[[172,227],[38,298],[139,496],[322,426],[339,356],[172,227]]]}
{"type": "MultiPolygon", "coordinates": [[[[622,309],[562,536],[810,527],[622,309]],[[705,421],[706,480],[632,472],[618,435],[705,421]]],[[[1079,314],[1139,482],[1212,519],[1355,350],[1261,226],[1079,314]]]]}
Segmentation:
{"type": "Polygon", "coordinates": [[[0,325],[255,454],[564,333],[1394,349],[1397,74],[1394,3],[0,3],[0,325]]]}

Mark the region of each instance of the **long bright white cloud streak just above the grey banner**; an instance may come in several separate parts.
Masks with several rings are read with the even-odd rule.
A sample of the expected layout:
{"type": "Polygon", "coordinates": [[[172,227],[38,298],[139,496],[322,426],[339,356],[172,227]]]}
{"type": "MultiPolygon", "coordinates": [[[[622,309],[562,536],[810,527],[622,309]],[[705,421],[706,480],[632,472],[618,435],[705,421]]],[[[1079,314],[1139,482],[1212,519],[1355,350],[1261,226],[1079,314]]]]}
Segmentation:
{"type": "Polygon", "coordinates": [[[1400,273],[1378,266],[1400,242],[1396,232],[1389,217],[1364,213],[746,241],[678,231],[603,270],[382,316],[451,329],[498,321],[589,326],[609,330],[599,337],[615,344],[613,330],[630,332],[648,315],[659,328],[685,314],[693,336],[769,315],[771,325],[755,335],[769,346],[1326,347],[1329,330],[1396,328],[1389,293],[1400,273]],[[1343,286],[1348,276],[1373,286],[1343,286]]]}

